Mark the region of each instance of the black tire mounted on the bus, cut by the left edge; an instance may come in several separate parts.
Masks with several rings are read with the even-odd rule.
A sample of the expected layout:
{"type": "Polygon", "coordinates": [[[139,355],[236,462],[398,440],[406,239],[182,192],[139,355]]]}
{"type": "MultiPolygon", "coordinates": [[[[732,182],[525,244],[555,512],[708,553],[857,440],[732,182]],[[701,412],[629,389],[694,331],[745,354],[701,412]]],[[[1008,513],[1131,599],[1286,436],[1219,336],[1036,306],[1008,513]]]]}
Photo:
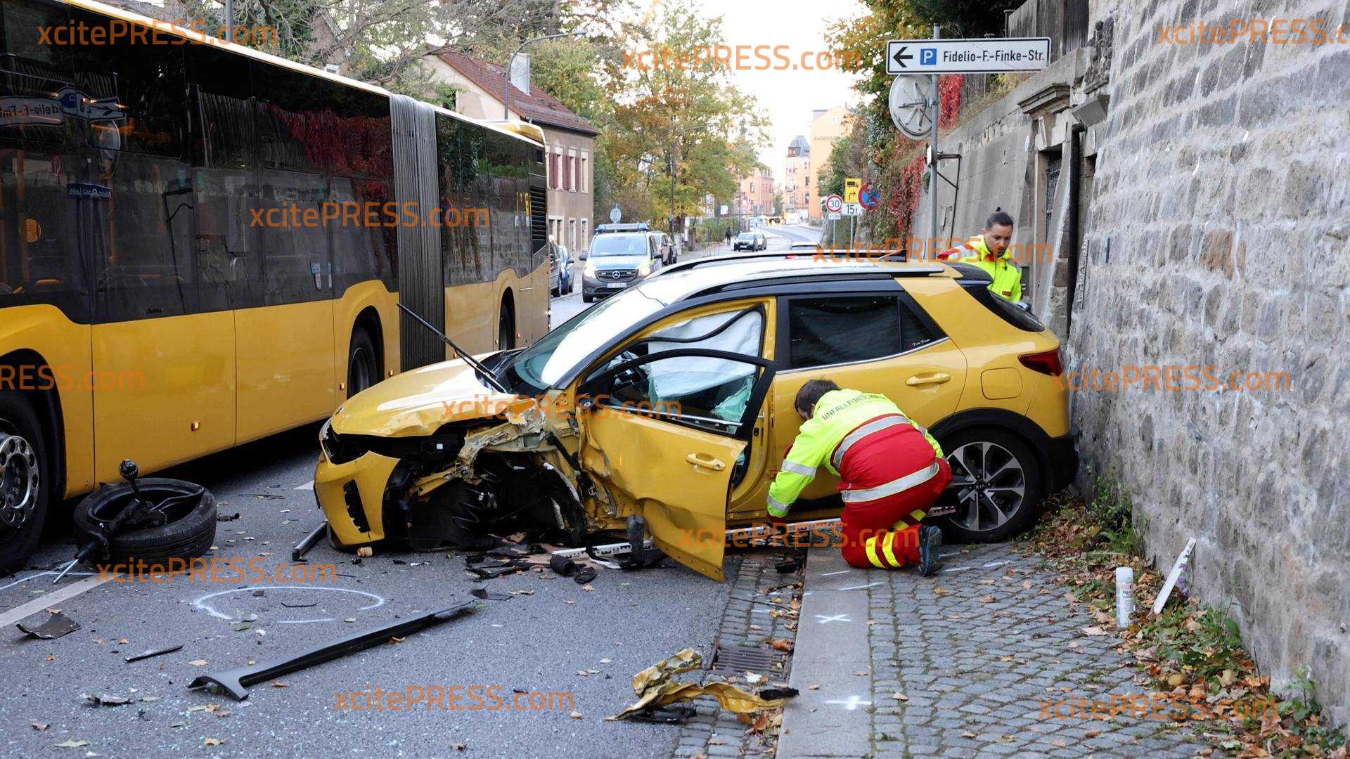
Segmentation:
{"type": "Polygon", "coordinates": [[[57,481],[54,466],[36,412],[19,393],[0,393],[0,509],[26,515],[15,515],[12,527],[0,521],[0,573],[27,566],[38,547],[57,481]]]}

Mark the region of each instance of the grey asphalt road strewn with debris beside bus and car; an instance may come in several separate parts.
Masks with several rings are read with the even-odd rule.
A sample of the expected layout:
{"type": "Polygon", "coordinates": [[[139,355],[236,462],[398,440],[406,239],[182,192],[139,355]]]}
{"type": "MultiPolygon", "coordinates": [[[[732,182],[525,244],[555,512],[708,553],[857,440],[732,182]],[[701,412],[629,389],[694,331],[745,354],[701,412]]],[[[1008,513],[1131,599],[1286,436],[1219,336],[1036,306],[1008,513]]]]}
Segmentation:
{"type": "MultiPolygon", "coordinates": [[[[811,232],[767,231],[771,247],[811,232]]],[[[579,292],[556,298],[554,324],[582,308],[579,292]]],[[[675,751],[676,728],[603,718],[632,702],[630,681],[639,670],[684,647],[710,654],[725,585],[671,560],[641,573],[599,569],[593,590],[537,573],[483,583],[463,571],[462,556],[446,551],[377,555],[355,565],[327,542],[306,559],[312,567],[331,565],[335,577],[282,582],[290,579],[290,546],[320,521],[312,489],[316,434],[317,425],[310,425],[163,473],[209,488],[223,516],[240,515],[217,524],[211,556],[255,562],[246,577],[103,582],[57,602],[38,601],[80,623],[63,637],[28,637],[12,624],[0,629],[0,754],[446,756],[459,755],[459,744],[470,756],[634,758],[675,751]],[[279,565],[288,569],[273,569],[279,565]],[[478,586],[524,593],[482,601],[471,616],[397,644],[285,675],[285,687],[259,683],[243,702],[188,690],[205,671],[289,656],[390,620],[473,601],[468,592],[478,586]],[[238,620],[251,623],[236,629],[244,627],[238,620]],[[123,659],[174,644],[182,650],[134,663],[123,659]],[[458,710],[448,702],[446,709],[351,710],[338,696],[364,705],[348,691],[428,686],[443,686],[447,698],[455,686],[498,686],[489,693],[505,704],[490,710],[487,705],[502,702],[462,696],[458,710]],[[517,710],[517,689],[570,693],[571,704],[555,697],[558,708],[517,710]],[[136,701],[94,706],[82,698],[86,693],[136,701]],[[77,745],[58,745],[68,741],[77,745]]],[[[0,578],[0,614],[74,583],[97,582],[97,575],[72,575],[51,583],[51,570],[73,554],[68,539],[59,531],[47,536],[31,569],[0,578]]]]}

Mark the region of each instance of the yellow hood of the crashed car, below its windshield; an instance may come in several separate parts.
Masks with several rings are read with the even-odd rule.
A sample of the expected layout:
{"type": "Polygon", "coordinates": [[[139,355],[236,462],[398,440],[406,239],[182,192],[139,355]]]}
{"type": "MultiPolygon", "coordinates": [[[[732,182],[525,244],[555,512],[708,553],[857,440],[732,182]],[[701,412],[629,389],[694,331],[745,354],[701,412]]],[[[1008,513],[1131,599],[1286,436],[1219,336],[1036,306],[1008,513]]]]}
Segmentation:
{"type": "Polygon", "coordinates": [[[396,374],[358,393],[332,416],[332,429],[339,435],[421,436],[448,421],[489,419],[529,402],[489,388],[473,366],[455,359],[396,374]]]}

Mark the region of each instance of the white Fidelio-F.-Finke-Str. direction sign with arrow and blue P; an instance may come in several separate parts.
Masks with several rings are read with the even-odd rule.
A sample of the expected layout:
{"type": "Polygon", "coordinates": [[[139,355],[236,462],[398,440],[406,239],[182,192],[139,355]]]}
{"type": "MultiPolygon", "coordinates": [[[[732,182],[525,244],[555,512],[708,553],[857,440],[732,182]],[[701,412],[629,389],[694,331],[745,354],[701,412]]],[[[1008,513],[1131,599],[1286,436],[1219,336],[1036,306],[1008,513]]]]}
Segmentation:
{"type": "Polygon", "coordinates": [[[891,39],[886,43],[888,74],[1038,72],[1048,65],[1049,36],[891,39]]]}

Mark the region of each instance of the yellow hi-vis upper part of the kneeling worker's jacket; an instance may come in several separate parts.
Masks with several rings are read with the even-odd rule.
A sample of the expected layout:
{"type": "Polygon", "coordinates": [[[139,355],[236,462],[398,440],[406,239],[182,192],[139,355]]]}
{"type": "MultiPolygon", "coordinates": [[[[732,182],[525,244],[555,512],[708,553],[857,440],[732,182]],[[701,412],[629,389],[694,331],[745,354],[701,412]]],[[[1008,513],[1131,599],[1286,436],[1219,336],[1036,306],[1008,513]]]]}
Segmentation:
{"type": "Polygon", "coordinates": [[[834,452],[844,438],[865,421],[888,415],[899,415],[915,429],[923,432],[929,444],[933,446],[933,451],[938,458],[942,458],[942,447],[937,444],[937,440],[927,434],[927,429],[905,416],[905,412],[891,398],[861,390],[830,390],[817,401],[811,419],[802,423],[802,429],[792,440],[792,447],[787,451],[778,477],[770,485],[768,513],[775,517],[787,516],[787,511],[815,478],[815,471],[821,465],[825,465],[830,474],[838,475],[837,467],[842,456],[834,456],[834,452]]]}

